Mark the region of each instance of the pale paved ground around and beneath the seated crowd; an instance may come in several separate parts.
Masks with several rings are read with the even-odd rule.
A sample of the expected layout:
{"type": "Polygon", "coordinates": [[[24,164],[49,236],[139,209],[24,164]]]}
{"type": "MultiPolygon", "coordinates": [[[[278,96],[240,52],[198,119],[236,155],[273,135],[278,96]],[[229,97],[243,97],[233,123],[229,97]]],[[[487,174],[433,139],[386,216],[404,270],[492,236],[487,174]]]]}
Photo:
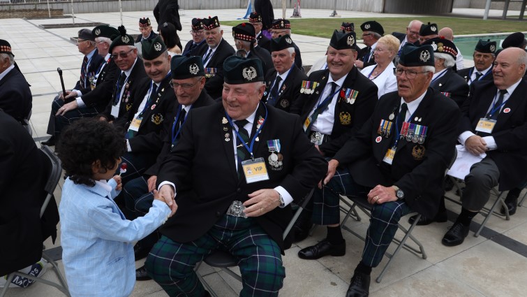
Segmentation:
{"type": "MultiPolygon", "coordinates": [[[[181,33],[182,43],[188,41],[190,21],[193,16],[218,15],[220,20],[235,20],[244,15],[244,10],[181,12],[184,31],[181,33]]],[[[288,10],[287,16],[291,14],[288,10]]],[[[304,17],[326,17],[331,10],[302,10],[304,17]]],[[[399,15],[382,15],[377,13],[354,13],[339,11],[342,20],[352,21],[354,17],[390,17],[399,15]]],[[[483,10],[454,10],[454,13],[466,15],[482,15],[483,10]]],[[[281,15],[276,10],[275,15],[281,15]]],[[[499,10],[491,10],[491,15],[500,16],[499,10]]],[[[510,11],[510,15],[519,12],[510,11]]],[[[124,13],[124,24],[131,34],[138,34],[137,23],[140,17],[154,17],[150,11],[124,13]]],[[[70,43],[70,37],[76,36],[78,28],[39,29],[39,24],[70,23],[71,19],[53,20],[0,20],[0,38],[10,41],[13,45],[15,60],[31,84],[34,95],[33,116],[31,126],[33,137],[38,145],[47,139],[45,133],[50,105],[53,97],[61,89],[57,67],[64,71],[66,87],[73,87],[80,73],[82,55],[70,43]]],[[[119,24],[119,13],[93,13],[77,15],[75,22],[107,22],[116,26],[119,24]]],[[[446,24],[445,24],[446,25],[446,24]]],[[[233,44],[230,27],[223,28],[224,37],[233,44]]],[[[401,28],[403,29],[403,28],[401,28]]],[[[294,30],[293,30],[294,31],[294,30]]],[[[293,39],[302,50],[304,64],[312,64],[325,53],[329,39],[309,36],[297,36],[293,39]]],[[[470,61],[466,61],[470,66],[470,61]]],[[[61,184],[57,187],[55,196],[60,201],[61,184]]],[[[522,193],[523,194],[523,193],[522,193]]],[[[447,194],[457,198],[452,192],[447,194]]],[[[495,197],[491,198],[491,202],[495,197]]],[[[447,204],[448,210],[458,213],[460,208],[454,203],[447,204]]],[[[364,234],[368,226],[366,215],[362,221],[350,220],[348,226],[358,233],[364,234]]],[[[452,220],[455,215],[450,213],[452,220]]],[[[406,221],[406,219],[405,219],[406,221]]],[[[478,215],[475,222],[482,222],[478,215]]],[[[405,224],[403,222],[403,224],[405,224]]],[[[387,271],[380,284],[372,280],[371,296],[524,296],[527,290],[527,209],[519,208],[510,221],[500,217],[491,217],[487,236],[473,237],[471,232],[466,242],[459,247],[444,247],[440,240],[452,221],[434,223],[429,226],[418,226],[414,235],[421,240],[428,254],[426,260],[401,251],[394,259],[392,267],[387,271]]],[[[313,236],[286,251],[283,261],[287,270],[285,284],[281,296],[288,297],[319,297],[344,296],[348,288],[352,270],[357,265],[362,252],[363,242],[344,232],[347,242],[347,253],[343,257],[325,257],[318,261],[304,261],[297,257],[299,249],[313,245],[325,236],[323,228],[315,229],[313,236]]],[[[5,242],[2,242],[5,244],[5,242]]],[[[48,240],[46,247],[60,245],[59,239],[53,245],[48,240]]],[[[390,247],[394,249],[394,247],[390,247]]],[[[387,262],[383,259],[381,266],[387,262]]],[[[61,266],[61,262],[59,261],[61,266]]],[[[136,266],[141,266],[138,261],[136,266]]],[[[64,272],[63,272],[64,273],[64,272]]],[[[203,265],[199,273],[205,277],[218,296],[237,296],[241,285],[229,275],[203,265]]],[[[372,277],[380,273],[380,268],[373,270],[372,277]]],[[[45,279],[57,280],[53,273],[44,275],[45,279]]],[[[34,284],[27,289],[10,289],[6,296],[48,297],[61,296],[59,291],[43,284],[34,284]]],[[[166,296],[154,281],[138,282],[133,296],[166,296]]]]}

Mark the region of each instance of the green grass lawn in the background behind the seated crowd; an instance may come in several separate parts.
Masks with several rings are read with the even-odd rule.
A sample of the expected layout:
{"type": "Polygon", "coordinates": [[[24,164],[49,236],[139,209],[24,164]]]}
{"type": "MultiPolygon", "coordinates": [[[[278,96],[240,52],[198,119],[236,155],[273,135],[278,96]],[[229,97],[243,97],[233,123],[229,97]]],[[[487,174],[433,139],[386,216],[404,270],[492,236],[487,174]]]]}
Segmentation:
{"type": "MultiPolygon", "coordinates": [[[[416,17],[385,17],[376,19],[383,25],[385,34],[406,32],[406,26],[416,17]]],[[[454,35],[465,34],[489,34],[526,31],[526,22],[507,21],[507,20],[479,20],[461,17],[418,17],[422,22],[436,22],[439,28],[450,27],[454,30],[454,35]]],[[[371,20],[371,18],[325,18],[325,19],[291,19],[292,32],[308,36],[326,37],[332,36],[334,29],[339,29],[342,22],[355,23],[355,31],[361,32],[360,24],[371,20]]],[[[235,26],[239,21],[221,22],[224,26],[235,26]]],[[[358,34],[357,34],[358,35],[358,34]]]]}

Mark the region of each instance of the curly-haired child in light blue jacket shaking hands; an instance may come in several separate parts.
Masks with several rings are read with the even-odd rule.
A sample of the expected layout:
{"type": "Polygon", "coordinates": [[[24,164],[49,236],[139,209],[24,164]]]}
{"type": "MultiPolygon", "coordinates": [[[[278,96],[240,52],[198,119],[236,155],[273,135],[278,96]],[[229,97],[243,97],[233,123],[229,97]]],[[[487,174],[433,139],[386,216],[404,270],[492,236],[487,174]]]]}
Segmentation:
{"type": "Polygon", "coordinates": [[[68,177],[59,214],[70,294],[129,296],[135,284],[133,242],[161,226],[177,205],[172,197],[165,203],[154,190],[155,200],[147,215],[125,219],[113,201],[121,190],[121,177],[112,175],[126,142],[112,124],[80,119],[62,133],[59,145],[58,155],[68,177]]]}

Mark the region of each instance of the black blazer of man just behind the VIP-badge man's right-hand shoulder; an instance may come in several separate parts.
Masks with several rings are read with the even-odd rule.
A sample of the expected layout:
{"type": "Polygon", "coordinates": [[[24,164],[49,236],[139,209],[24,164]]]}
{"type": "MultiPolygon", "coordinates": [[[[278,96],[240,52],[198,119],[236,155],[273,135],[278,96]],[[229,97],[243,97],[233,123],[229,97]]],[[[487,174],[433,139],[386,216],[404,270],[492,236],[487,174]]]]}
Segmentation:
{"type": "MultiPolygon", "coordinates": [[[[267,102],[267,96],[269,95],[269,92],[271,92],[271,87],[276,79],[276,74],[276,70],[272,68],[267,72],[267,75],[265,75],[267,89],[265,89],[264,96],[262,97],[262,101],[264,102],[267,102]]],[[[291,106],[295,104],[295,101],[301,95],[300,88],[302,87],[302,80],[307,80],[307,75],[298,67],[291,67],[288,77],[285,78],[282,87],[279,89],[278,97],[273,102],[274,104],[271,102],[267,104],[272,104],[272,106],[276,108],[289,112],[291,106]]]]}

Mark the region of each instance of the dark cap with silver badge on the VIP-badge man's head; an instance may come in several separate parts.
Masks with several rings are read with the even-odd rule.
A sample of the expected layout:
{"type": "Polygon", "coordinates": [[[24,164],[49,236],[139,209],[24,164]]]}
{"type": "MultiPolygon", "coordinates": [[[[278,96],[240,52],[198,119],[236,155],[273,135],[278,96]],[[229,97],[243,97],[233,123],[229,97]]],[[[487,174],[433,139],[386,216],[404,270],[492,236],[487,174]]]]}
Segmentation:
{"type": "Polygon", "coordinates": [[[225,73],[223,80],[230,85],[264,81],[260,59],[230,56],[223,62],[223,73],[225,73]]]}

